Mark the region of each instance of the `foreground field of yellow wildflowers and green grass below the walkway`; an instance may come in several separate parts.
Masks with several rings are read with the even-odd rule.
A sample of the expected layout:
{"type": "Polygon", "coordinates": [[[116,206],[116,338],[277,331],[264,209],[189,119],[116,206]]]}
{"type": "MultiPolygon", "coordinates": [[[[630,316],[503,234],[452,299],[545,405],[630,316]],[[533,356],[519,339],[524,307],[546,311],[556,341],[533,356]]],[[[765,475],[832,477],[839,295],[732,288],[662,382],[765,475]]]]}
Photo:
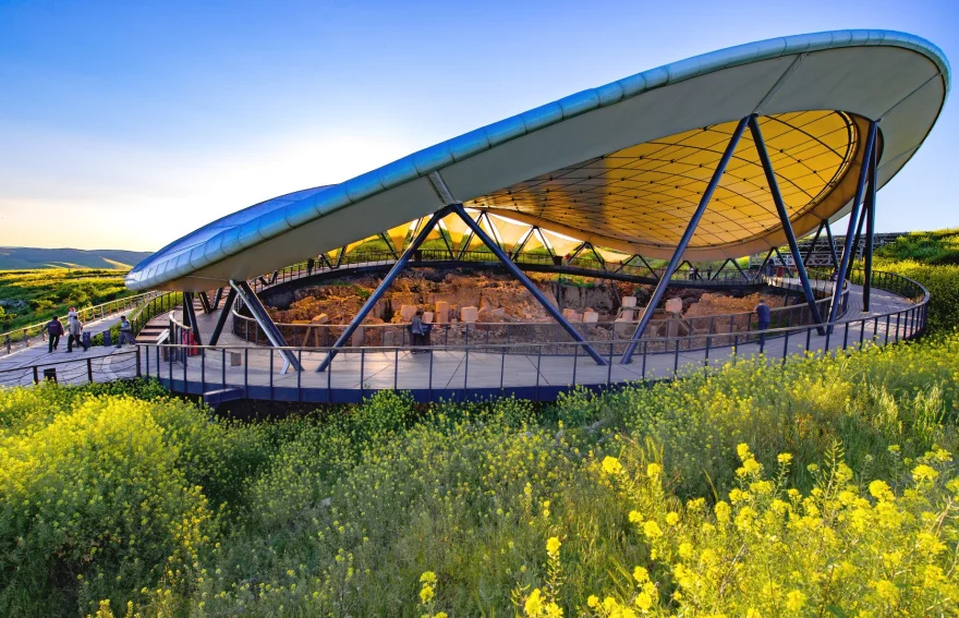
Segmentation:
{"type": "Polygon", "coordinates": [[[956,616],[957,414],[942,324],[545,407],[2,390],[0,616],[956,616]]]}

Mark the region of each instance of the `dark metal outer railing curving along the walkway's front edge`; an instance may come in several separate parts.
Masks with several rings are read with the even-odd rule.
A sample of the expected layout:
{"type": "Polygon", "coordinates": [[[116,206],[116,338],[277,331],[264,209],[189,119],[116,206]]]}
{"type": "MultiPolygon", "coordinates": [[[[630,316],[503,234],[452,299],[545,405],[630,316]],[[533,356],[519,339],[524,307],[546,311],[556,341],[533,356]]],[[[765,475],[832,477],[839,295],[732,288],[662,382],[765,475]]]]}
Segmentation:
{"type": "Polygon", "coordinates": [[[494,393],[548,399],[576,386],[608,388],[640,379],[672,379],[755,355],[785,362],[790,355],[834,354],[912,339],[925,330],[928,293],[922,286],[886,272],[875,272],[873,284],[899,290],[903,299],[915,302],[822,325],[828,326],[823,335],[817,326],[805,325],[735,334],[731,342],[727,334],[644,339],[628,366],[618,364],[624,340],[345,348],[323,373],[314,369],[328,348],[289,347],[282,350],[294,354],[304,371],[287,374],[280,372],[283,361],[277,348],[147,344],[139,347],[141,364],[144,375],[191,395],[232,392],[238,398],[343,402],[389,389],[409,390],[424,401],[494,393]],[[687,343],[694,337],[705,344],[687,343]],[[583,351],[586,344],[603,353],[608,364],[593,363],[583,351]]]}

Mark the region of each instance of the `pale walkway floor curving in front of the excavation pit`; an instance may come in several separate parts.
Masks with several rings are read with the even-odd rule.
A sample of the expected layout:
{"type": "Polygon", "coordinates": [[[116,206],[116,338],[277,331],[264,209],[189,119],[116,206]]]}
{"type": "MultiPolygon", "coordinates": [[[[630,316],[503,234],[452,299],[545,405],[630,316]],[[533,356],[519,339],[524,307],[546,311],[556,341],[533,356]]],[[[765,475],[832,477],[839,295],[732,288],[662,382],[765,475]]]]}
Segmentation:
{"type": "MultiPolygon", "coordinates": [[[[328,372],[318,373],[316,368],[326,358],[324,350],[298,349],[291,351],[303,365],[303,372],[281,373],[284,362],[279,351],[254,347],[232,335],[228,319],[218,348],[197,350],[198,354],[189,356],[183,363],[163,359],[162,351],[156,347],[147,348],[150,355],[144,361],[144,372],[165,381],[173,380],[174,389],[184,388],[189,383],[192,392],[203,393],[211,390],[241,388],[253,398],[274,398],[280,391],[299,392],[296,399],[321,400],[303,397],[304,391],[352,390],[368,392],[379,389],[400,389],[413,391],[488,391],[491,389],[541,389],[569,387],[570,385],[596,386],[640,379],[664,379],[681,376],[706,366],[718,366],[729,361],[762,353],[766,358],[781,359],[790,354],[801,355],[810,352],[829,352],[859,346],[860,342],[875,341],[884,344],[907,338],[914,330],[914,319],[910,322],[906,312],[913,307],[910,300],[884,290],[873,290],[872,312],[863,313],[862,290],[859,286],[849,288],[849,310],[831,334],[820,335],[815,328],[800,328],[773,332],[761,343],[754,334],[748,342],[733,346],[705,346],[678,353],[672,351],[675,341],[680,347],[685,340],[666,342],[669,352],[650,353],[645,358],[642,344],[634,361],[620,365],[619,358],[624,343],[600,341],[594,343],[600,355],[612,363],[597,365],[582,350],[575,353],[573,343],[549,343],[550,352],[537,353],[536,344],[434,347],[420,354],[410,350],[381,348],[347,348],[332,362],[328,372]],[[894,314],[887,319],[885,316],[894,314]],[[877,316],[884,316],[876,319],[877,316]],[[912,329],[912,330],[910,330],[912,329]],[[565,348],[563,355],[556,355],[557,348],[565,348]],[[524,353],[519,353],[524,352],[524,353]],[[159,362],[159,365],[158,365],[159,362]],[[255,392],[254,392],[255,391],[255,392]]],[[[197,316],[204,341],[208,340],[218,313],[197,316]]],[[[697,335],[697,340],[706,337],[697,335]]],[[[716,340],[727,341],[729,335],[717,335],[716,340]]],[[[653,340],[644,340],[650,343],[653,340]]],[[[656,343],[664,344],[663,340],[656,343]]],[[[648,344],[648,343],[647,343],[648,344]]],[[[524,391],[525,392],[525,391],[524,391]]],[[[329,393],[327,393],[328,396],[329,393]]]]}

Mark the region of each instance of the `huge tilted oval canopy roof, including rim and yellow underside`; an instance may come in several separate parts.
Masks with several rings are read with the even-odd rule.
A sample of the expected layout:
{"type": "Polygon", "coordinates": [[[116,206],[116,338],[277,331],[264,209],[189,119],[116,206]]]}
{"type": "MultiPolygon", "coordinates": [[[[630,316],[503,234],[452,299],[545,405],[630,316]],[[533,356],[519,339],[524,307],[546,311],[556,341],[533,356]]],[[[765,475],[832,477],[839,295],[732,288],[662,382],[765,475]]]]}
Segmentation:
{"type": "MultiPolygon", "coordinates": [[[[850,207],[865,130],[879,120],[879,186],[932,130],[949,90],[933,44],[887,31],[776,38],[653,69],[432,146],[341,184],[251,206],[163,247],[132,289],[203,290],[466,206],[594,245],[668,257],[736,122],[760,125],[797,234],[850,207]]],[[[785,242],[749,133],[684,256],[785,242]]]]}

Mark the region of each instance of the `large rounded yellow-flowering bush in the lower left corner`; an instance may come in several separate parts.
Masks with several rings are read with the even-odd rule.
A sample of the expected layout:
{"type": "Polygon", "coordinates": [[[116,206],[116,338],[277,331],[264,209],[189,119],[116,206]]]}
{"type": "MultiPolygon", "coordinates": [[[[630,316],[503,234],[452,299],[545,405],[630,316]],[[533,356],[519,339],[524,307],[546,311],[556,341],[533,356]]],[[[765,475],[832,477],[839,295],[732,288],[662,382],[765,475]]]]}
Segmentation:
{"type": "Polygon", "coordinates": [[[107,596],[125,602],[163,575],[175,585],[191,569],[210,512],[150,409],[129,398],[83,398],[46,426],[3,436],[4,615],[65,615],[107,596]]]}

